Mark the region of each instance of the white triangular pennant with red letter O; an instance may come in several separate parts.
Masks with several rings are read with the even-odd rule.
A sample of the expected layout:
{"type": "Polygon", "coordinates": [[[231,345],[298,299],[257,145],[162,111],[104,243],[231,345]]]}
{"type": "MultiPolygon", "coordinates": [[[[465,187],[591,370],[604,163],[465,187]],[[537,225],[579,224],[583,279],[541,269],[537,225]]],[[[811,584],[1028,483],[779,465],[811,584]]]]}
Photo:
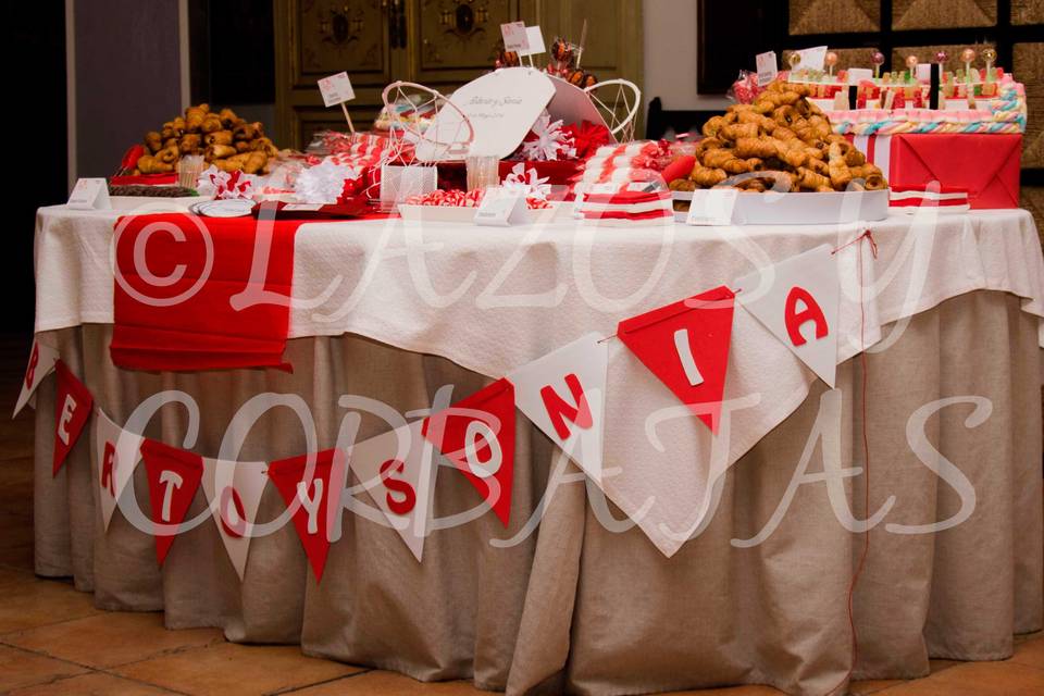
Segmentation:
{"type": "Polygon", "coordinates": [[[203,458],[203,493],[240,582],[247,572],[253,521],[269,481],[266,467],[263,461],[203,458]]]}

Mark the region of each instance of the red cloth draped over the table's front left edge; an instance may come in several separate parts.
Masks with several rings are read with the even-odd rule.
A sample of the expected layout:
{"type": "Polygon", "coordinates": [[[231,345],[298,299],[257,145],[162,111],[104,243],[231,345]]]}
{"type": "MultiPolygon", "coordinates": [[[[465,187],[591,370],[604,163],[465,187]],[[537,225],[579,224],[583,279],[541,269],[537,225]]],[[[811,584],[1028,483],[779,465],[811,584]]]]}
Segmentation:
{"type": "MultiPolygon", "coordinates": [[[[272,225],[263,289],[290,295],[294,237],[301,220],[272,225]]],[[[115,327],[110,353],[114,364],[132,370],[211,370],[284,368],[289,308],[260,303],[237,311],[231,298],[247,288],[259,222],[253,217],[198,217],[184,213],[132,215],[116,221],[115,327]],[[151,231],[151,233],[150,233],[151,231]],[[212,268],[204,232],[213,243],[212,268]],[[182,235],[182,241],[174,235],[182,235]],[[144,244],[138,244],[144,241],[144,244]],[[144,249],[145,270],[135,266],[135,247],[144,249]],[[182,274],[162,285],[141,277],[182,274]],[[199,287],[191,291],[198,278],[199,287]],[[129,287],[129,290],[128,290],[129,287]],[[133,290],[133,293],[132,293],[133,290]],[[145,296],[145,300],[136,295],[145,296]],[[186,295],[181,301],[173,299],[186,295]],[[165,304],[148,301],[166,300],[165,304]]]]}

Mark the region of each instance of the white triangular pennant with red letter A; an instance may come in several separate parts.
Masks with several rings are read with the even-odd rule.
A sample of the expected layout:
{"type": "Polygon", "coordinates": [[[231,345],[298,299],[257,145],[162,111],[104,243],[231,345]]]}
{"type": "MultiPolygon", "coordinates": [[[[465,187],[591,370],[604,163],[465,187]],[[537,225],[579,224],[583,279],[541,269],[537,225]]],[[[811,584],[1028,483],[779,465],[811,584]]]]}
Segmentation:
{"type": "Polygon", "coordinates": [[[737,278],[736,287],[744,309],[833,387],[841,285],[830,245],[737,278]]]}

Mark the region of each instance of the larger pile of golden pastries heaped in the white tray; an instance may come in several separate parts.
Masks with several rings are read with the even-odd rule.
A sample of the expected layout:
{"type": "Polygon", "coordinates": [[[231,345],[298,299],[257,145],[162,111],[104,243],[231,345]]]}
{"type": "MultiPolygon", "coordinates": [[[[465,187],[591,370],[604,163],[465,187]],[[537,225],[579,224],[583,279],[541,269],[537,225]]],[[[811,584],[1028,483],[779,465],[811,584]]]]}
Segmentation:
{"type": "Polygon", "coordinates": [[[751,104],[733,104],[704,124],[696,164],[674,190],[732,186],[746,191],[887,188],[881,170],[836,135],[801,85],[772,83],[751,104]],[[728,179],[728,181],[726,181],[728,179]]]}

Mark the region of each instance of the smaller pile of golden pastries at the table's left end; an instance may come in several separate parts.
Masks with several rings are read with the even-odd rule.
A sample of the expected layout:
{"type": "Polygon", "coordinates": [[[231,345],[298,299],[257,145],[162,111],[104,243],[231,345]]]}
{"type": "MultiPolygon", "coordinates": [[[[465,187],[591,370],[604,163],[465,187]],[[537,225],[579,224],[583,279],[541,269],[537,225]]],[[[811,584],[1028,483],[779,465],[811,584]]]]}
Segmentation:
{"type": "Polygon", "coordinates": [[[247,123],[232,109],[211,111],[210,104],[189,107],[159,133],[145,134],[145,146],[136,174],[173,172],[184,154],[202,154],[225,172],[268,174],[269,159],[278,154],[261,122],[247,123]]]}

